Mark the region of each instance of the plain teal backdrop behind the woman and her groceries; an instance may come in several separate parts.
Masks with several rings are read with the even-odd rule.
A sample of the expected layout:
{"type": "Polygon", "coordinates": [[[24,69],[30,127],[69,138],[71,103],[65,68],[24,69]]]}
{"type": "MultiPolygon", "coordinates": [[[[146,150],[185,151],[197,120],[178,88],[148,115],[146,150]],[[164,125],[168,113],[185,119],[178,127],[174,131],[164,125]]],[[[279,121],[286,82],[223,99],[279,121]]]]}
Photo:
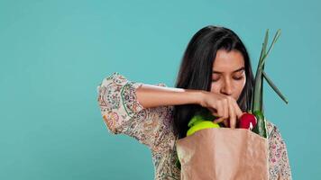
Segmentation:
{"type": "Polygon", "coordinates": [[[108,133],[96,86],[119,72],[173,86],[191,37],[234,30],[256,69],[267,28],[282,30],[264,92],[294,179],[320,179],[318,1],[0,0],[0,179],[153,179],[150,150],[108,133]]]}

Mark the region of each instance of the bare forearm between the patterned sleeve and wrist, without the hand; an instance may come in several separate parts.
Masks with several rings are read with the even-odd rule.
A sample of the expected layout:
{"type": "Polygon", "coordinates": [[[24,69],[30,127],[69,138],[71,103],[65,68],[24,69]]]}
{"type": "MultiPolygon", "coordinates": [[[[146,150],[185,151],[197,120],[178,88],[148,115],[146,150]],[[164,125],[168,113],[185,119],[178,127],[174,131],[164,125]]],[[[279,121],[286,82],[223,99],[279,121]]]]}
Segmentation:
{"type": "Polygon", "coordinates": [[[144,108],[199,103],[202,93],[201,90],[145,84],[136,90],[137,100],[144,108]]]}

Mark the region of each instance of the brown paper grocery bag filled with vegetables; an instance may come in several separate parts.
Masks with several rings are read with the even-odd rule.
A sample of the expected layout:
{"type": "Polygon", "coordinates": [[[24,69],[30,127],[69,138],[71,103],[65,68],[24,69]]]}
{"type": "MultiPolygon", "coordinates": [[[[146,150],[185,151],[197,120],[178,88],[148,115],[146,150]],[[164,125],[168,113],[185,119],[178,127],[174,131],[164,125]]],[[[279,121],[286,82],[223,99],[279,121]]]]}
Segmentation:
{"type": "Polygon", "coordinates": [[[268,179],[268,141],[251,130],[198,130],[176,146],[182,180],[268,179]]]}

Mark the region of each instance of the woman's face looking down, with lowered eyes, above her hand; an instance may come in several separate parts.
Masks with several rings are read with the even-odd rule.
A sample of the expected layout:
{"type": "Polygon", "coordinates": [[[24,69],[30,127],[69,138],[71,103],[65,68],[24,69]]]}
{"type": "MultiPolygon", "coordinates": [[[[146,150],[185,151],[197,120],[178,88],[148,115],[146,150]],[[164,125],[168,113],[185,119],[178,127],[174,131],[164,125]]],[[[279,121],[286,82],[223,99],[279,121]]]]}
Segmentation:
{"type": "Polygon", "coordinates": [[[238,50],[219,49],[213,64],[211,92],[238,100],[246,82],[243,55],[238,50]]]}

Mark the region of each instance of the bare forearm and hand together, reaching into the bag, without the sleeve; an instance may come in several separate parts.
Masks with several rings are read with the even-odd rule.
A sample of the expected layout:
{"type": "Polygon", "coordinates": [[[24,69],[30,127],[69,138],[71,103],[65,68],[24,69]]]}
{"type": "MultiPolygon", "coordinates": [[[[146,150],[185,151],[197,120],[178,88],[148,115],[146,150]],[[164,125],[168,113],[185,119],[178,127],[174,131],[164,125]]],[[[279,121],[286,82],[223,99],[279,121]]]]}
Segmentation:
{"type": "Polygon", "coordinates": [[[161,87],[158,85],[141,85],[136,90],[137,101],[144,108],[161,105],[179,105],[197,103],[211,110],[219,117],[216,122],[224,121],[231,128],[235,128],[237,119],[243,115],[233,97],[223,94],[214,94],[203,90],[161,87]]]}

